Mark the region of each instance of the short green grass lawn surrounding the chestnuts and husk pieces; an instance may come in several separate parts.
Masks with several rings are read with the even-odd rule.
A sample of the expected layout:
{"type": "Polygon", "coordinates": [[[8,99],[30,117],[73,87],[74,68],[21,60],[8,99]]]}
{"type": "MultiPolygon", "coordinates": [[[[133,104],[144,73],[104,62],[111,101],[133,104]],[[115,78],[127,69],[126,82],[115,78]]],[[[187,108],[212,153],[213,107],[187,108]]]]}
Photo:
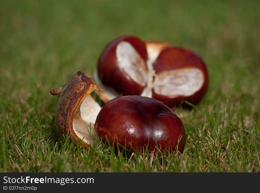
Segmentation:
{"type": "Polygon", "coordinates": [[[258,1],[1,1],[0,172],[259,172],[258,1]],[[131,34],[199,54],[210,84],[191,110],[174,108],[183,153],[89,151],[59,141],[56,97],[89,76],[105,44],[131,34]]]}

